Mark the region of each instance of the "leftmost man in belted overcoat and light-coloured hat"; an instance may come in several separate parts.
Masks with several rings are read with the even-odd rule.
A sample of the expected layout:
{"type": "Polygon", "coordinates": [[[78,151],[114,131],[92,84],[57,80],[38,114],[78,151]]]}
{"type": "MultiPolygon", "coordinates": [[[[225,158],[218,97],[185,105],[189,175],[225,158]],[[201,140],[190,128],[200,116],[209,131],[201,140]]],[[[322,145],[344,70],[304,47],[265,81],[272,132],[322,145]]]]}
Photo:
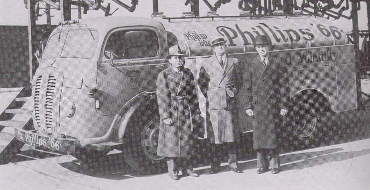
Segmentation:
{"type": "Polygon", "coordinates": [[[192,157],[198,141],[193,133],[193,120],[200,117],[194,77],[183,67],[185,54],[178,45],[169,48],[167,59],[171,64],[158,74],[156,83],[160,116],[157,155],[167,157],[171,179],[178,180],[180,170],[197,177],[191,166],[184,166],[184,158],[192,157]]]}

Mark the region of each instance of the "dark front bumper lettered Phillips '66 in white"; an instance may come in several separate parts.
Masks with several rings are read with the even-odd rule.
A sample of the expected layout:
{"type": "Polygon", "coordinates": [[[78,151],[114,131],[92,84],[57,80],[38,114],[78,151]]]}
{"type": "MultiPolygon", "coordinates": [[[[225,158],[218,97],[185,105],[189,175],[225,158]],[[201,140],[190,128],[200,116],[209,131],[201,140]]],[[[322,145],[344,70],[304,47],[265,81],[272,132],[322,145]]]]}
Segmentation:
{"type": "Polygon", "coordinates": [[[25,144],[65,153],[75,153],[75,141],[73,139],[61,139],[51,136],[43,136],[37,133],[15,129],[15,137],[25,144]]]}

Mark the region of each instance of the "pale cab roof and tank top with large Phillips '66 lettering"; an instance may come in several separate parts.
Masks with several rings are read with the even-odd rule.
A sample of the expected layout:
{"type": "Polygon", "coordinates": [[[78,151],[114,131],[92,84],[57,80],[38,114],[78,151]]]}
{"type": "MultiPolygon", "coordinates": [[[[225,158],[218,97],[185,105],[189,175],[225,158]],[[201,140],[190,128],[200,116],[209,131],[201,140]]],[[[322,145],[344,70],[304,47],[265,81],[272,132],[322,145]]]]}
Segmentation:
{"type": "Polygon", "coordinates": [[[58,28],[95,28],[100,36],[105,36],[114,28],[139,25],[157,28],[163,37],[167,37],[168,46],[179,44],[188,56],[211,55],[209,38],[216,34],[221,34],[227,39],[229,54],[254,52],[252,44],[258,34],[270,37],[273,44],[272,50],[327,47],[348,43],[343,29],[330,20],[312,16],[184,19],[109,16],[80,19],[78,22],[70,22],[58,28]]]}

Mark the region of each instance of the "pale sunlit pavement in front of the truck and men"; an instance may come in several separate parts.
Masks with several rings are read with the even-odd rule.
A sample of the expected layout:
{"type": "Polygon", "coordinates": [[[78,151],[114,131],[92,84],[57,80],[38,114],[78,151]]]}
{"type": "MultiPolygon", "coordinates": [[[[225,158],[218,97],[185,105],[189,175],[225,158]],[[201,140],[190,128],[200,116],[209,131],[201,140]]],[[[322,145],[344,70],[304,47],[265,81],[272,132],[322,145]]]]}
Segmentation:
{"type": "MultiPolygon", "coordinates": [[[[256,161],[242,161],[243,174],[210,175],[170,180],[167,174],[136,176],[123,170],[86,170],[72,156],[44,155],[41,159],[0,165],[1,190],[367,190],[370,189],[370,130],[355,132],[338,144],[282,154],[282,172],[256,174],[256,161]]],[[[24,153],[26,154],[26,153],[24,153]]],[[[46,153],[45,153],[46,154],[46,153]]],[[[34,156],[34,155],[29,155],[34,156]]],[[[112,165],[111,165],[112,166],[112,165]]]]}

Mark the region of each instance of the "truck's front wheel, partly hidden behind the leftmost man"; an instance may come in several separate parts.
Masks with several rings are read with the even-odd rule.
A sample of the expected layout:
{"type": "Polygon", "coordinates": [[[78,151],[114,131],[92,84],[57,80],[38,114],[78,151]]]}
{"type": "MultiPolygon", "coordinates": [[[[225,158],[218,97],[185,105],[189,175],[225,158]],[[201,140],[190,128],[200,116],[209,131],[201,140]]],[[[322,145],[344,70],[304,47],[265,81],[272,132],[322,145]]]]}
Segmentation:
{"type": "Polygon", "coordinates": [[[157,156],[159,114],[153,104],[144,105],[131,116],[123,138],[125,162],[143,175],[167,172],[165,157],[157,156]]]}

